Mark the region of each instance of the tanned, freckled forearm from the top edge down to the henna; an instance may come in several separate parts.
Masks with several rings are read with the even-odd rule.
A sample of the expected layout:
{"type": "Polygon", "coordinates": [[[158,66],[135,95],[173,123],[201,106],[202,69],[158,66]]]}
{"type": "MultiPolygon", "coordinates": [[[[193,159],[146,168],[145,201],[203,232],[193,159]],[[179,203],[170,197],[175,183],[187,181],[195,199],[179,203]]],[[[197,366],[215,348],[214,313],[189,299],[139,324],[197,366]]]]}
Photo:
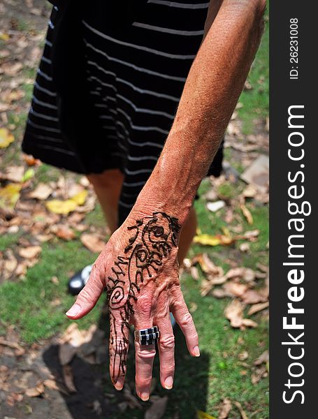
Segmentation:
{"type": "Polygon", "coordinates": [[[224,0],[198,51],[157,166],[133,211],[184,223],[243,89],[261,37],[258,0],[224,0]]]}

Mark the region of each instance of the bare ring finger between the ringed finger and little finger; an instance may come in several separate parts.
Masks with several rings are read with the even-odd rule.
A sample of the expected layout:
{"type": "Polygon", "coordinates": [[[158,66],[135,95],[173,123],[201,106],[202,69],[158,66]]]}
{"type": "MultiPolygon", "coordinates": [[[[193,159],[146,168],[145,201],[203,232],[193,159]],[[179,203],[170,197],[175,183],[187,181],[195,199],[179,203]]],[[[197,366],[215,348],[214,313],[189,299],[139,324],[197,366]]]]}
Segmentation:
{"type": "Polygon", "coordinates": [[[175,374],[175,337],[169,310],[164,315],[154,318],[154,324],[158,325],[160,337],[158,351],[160,360],[160,381],[162,387],[170,390],[173,388],[173,376],[175,374]]]}

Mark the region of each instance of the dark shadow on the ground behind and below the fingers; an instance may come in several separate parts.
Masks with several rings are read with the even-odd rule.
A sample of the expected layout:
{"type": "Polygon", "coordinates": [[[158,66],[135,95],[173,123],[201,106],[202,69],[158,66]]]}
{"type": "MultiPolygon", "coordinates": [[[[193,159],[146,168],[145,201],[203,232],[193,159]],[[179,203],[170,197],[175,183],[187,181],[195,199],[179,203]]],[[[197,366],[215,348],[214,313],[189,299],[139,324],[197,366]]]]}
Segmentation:
{"type": "MultiPolygon", "coordinates": [[[[105,331],[109,334],[108,314],[106,310],[99,320],[97,333],[105,331]]],[[[175,326],[175,382],[173,390],[165,390],[161,387],[159,379],[159,358],[154,360],[154,390],[152,395],[163,397],[168,395],[166,412],[162,418],[165,419],[194,419],[196,411],[205,411],[208,397],[208,372],[209,356],[201,353],[200,358],[193,358],[189,355],[185,338],[178,325],[175,326]]],[[[94,336],[92,338],[94,341],[94,336]]],[[[71,369],[75,388],[77,392],[60,392],[71,418],[74,419],[121,419],[136,418],[145,416],[145,411],[150,407],[151,402],[141,402],[141,409],[129,409],[120,411],[119,403],[124,402],[124,392],[118,392],[113,388],[108,372],[108,345],[105,345],[105,352],[101,364],[91,364],[78,355],[75,355],[71,362],[71,369]]],[[[134,348],[130,345],[128,356],[128,372],[126,383],[133,395],[134,390],[134,348]]],[[[63,382],[62,366],[59,363],[59,348],[57,345],[49,346],[43,353],[43,360],[50,372],[59,383],[63,382]]],[[[64,406],[65,410],[65,406],[64,406]]]]}

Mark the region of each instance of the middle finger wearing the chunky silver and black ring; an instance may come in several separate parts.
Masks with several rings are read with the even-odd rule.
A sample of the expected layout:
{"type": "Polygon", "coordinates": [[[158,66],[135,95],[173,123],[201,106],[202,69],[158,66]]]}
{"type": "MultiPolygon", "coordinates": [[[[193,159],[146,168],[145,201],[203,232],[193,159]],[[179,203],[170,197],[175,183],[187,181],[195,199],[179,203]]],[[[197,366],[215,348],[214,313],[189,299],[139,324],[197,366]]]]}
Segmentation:
{"type": "MultiPolygon", "coordinates": [[[[143,311],[145,313],[147,310],[143,311]]],[[[153,320],[150,312],[148,311],[149,320],[136,321],[135,330],[152,328],[153,320]]],[[[149,399],[150,386],[152,381],[152,366],[154,363],[154,356],[156,355],[156,348],[154,344],[141,345],[138,341],[135,341],[135,352],[136,352],[136,392],[140,399],[144,402],[149,399]]]]}

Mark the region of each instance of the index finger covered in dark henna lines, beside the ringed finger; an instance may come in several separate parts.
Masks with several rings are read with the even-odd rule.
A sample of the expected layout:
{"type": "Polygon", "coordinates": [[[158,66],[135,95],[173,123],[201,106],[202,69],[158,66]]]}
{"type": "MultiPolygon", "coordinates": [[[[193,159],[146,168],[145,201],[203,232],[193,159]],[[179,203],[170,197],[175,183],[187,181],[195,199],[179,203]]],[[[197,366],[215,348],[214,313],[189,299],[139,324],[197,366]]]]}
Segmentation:
{"type": "Polygon", "coordinates": [[[129,315],[127,307],[110,309],[109,372],[117,390],[122,390],[127,371],[129,315]]]}

